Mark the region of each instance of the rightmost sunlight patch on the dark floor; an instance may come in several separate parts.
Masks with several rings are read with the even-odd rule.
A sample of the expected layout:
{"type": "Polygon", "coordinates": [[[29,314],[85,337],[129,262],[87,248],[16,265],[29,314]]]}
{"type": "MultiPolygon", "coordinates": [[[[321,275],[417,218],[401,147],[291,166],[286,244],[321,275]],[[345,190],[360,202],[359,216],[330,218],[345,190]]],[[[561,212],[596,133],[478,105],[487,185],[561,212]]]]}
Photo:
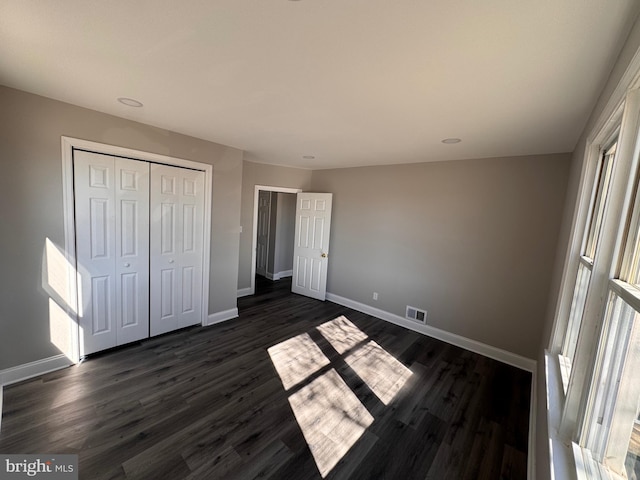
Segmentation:
{"type": "Polygon", "coordinates": [[[412,375],[411,370],[374,341],[348,355],[345,362],[385,405],[389,405],[412,375]]]}

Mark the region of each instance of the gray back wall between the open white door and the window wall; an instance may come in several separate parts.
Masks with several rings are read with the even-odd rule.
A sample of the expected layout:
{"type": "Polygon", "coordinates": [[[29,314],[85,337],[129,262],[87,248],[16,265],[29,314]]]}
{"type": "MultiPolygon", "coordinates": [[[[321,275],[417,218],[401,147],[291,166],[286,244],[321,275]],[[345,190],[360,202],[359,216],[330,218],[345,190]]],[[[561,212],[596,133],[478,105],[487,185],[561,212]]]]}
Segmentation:
{"type": "Polygon", "coordinates": [[[570,155],[313,172],[334,194],[327,290],[536,358],[570,155]],[[372,299],[379,293],[378,301],[372,299]]]}

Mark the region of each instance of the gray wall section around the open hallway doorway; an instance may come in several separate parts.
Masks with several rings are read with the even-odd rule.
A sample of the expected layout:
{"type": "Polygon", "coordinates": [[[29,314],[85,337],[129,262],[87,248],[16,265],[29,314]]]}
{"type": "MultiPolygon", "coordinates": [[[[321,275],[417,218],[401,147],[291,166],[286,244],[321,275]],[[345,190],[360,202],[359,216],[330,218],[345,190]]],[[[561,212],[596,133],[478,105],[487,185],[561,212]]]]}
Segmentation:
{"type": "Polygon", "coordinates": [[[309,190],[311,170],[279,167],[244,161],[242,169],[242,211],[238,289],[251,286],[251,248],[253,244],[253,193],[256,185],[309,190]]]}

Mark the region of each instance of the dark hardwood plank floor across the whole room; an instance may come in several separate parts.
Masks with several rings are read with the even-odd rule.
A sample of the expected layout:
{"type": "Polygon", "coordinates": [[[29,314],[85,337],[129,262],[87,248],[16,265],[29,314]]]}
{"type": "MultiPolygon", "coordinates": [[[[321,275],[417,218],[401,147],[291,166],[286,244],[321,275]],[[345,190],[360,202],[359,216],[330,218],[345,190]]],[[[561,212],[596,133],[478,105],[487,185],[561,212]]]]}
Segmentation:
{"type": "Polygon", "coordinates": [[[82,479],[527,477],[530,373],[257,286],[238,319],[6,387],[0,452],[82,479]]]}

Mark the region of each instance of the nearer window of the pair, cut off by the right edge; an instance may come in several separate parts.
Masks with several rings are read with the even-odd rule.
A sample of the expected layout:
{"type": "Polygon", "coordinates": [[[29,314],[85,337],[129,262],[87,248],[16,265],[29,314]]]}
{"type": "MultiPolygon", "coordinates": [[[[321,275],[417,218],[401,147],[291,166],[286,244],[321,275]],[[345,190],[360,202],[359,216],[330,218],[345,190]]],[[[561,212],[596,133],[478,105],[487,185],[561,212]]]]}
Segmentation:
{"type": "MultiPolygon", "coordinates": [[[[637,162],[636,162],[637,163],[637,162]]],[[[636,173],[636,178],[639,175],[636,173]]],[[[613,472],[640,478],[640,196],[633,184],[598,344],[582,443],[613,472]]]]}

